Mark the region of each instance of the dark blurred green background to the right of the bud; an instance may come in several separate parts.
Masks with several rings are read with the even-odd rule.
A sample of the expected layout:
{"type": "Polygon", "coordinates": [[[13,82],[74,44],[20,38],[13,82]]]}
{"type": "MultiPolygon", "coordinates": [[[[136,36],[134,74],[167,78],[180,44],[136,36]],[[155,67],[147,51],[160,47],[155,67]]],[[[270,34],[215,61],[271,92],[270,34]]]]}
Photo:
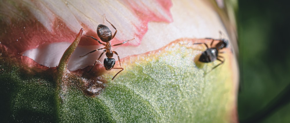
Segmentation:
{"type": "Polygon", "coordinates": [[[282,0],[238,4],[239,120],[290,122],[290,4],[282,0]]]}

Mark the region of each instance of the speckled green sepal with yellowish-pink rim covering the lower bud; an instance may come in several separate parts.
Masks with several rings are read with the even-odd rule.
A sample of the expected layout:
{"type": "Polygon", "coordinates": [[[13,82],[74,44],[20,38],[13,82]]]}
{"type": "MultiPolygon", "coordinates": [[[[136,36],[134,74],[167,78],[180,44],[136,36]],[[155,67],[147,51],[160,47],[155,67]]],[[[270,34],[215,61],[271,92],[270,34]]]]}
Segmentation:
{"type": "Polygon", "coordinates": [[[224,55],[223,65],[204,75],[219,62],[197,68],[195,56],[205,49],[192,45],[193,41],[177,40],[160,50],[122,59],[125,70],[113,81],[116,71],[102,75],[108,83],[95,97],[67,84],[82,83],[73,73],[60,77],[57,69],[56,79],[29,76],[21,67],[1,62],[1,92],[7,100],[2,105],[4,118],[11,122],[231,122],[235,109],[231,53],[224,55]]]}

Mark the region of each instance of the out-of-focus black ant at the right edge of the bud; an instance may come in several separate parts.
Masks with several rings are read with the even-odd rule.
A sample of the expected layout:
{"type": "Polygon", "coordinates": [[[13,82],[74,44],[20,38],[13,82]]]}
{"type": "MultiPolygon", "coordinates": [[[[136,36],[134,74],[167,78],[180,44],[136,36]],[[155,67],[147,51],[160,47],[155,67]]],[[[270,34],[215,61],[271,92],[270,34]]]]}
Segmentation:
{"type": "MultiPolygon", "coordinates": [[[[221,31],[220,31],[220,34],[221,31]]],[[[219,53],[224,53],[224,52],[219,52],[219,50],[226,48],[229,41],[226,39],[213,39],[213,38],[206,38],[206,39],[211,39],[211,47],[209,48],[209,46],[206,43],[194,43],[194,44],[204,44],[206,46],[206,50],[204,52],[202,52],[200,58],[198,59],[198,61],[200,62],[204,62],[204,63],[209,63],[215,60],[219,60],[221,63],[214,66],[209,72],[211,72],[213,69],[217,68],[218,66],[220,66],[221,64],[224,63],[225,59],[224,57],[220,56],[219,53]],[[217,44],[215,44],[215,46],[213,46],[213,41],[219,41],[217,44]]]]}

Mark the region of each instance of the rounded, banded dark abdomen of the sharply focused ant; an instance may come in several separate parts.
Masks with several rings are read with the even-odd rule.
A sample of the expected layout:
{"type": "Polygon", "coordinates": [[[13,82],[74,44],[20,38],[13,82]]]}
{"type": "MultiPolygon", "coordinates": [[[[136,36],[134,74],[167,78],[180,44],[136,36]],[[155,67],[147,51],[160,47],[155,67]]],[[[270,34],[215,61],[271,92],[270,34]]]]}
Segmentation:
{"type": "Polygon", "coordinates": [[[112,40],[112,31],[106,25],[98,25],[97,34],[103,42],[112,40]]]}

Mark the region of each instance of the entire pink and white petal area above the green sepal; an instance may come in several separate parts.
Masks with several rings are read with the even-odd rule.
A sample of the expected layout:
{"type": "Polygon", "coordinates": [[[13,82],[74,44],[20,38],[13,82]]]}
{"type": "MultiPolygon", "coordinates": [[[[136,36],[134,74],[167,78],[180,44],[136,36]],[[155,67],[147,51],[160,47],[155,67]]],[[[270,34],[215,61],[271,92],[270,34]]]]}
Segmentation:
{"type": "MultiPolygon", "coordinates": [[[[1,20],[3,30],[0,33],[0,45],[12,53],[23,53],[37,63],[50,67],[57,66],[59,56],[68,46],[52,42],[70,43],[80,28],[84,28],[84,34],[98,38],[96,28],[99,24],[107,25],[114,32],[115,29],[104,20],[104,14],[118,30],[112,44],[135,38],[113,48],[120,58],[159,49],[178,38],[220,38],[218,31],[226,32],[215,10],[198,0],[173,3],[166,0],[98,3],[56,0],[26,1],[13,5],[2,2],[0,14],[5,13],[7,17],[1,20]]],[[[92,65],[102,51],[86,57],[79,56],[100,47],[97,44],[95,40],[83,36],[80,42],[83,48],[78,47],[75,51],[77,55],[73,54],[70,59],[69,69],[77,70],[92,65]]],[[[117,59],[116,56],[114,58],[117,59]]]]}

